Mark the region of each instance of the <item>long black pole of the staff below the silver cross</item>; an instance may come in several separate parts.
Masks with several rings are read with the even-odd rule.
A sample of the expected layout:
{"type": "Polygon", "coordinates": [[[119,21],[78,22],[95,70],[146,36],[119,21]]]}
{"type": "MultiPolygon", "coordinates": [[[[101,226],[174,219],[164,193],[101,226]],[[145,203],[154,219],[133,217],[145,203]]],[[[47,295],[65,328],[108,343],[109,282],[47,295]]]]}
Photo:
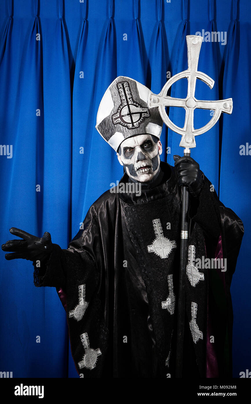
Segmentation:
{"type": "MultiPolygon", "coordinates": [[[[190,149],[184,149],[184,156],[190,156],[190,149]]],[[[178,291],[178,321],[177,321],[177,350],[176,350],[176,378],[182,377],[183,365],[183,341],[185,321],[185,294],[186,294],[186,269],[187,269],[187,246],[189,231],[189,193],[188,188],[182,186],[182,218],[180,234],[180,279],[178,291]]]]}

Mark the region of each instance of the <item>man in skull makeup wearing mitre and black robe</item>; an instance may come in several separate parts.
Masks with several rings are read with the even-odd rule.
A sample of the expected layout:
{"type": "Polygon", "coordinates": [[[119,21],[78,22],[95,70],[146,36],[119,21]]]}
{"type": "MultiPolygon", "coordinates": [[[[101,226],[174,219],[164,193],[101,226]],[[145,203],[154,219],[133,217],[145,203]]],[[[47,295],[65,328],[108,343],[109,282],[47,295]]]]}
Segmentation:
{"type": "Polygon", "coordinates": [[[174,167],[160,161],[163,122],[157,107],[147,107],[148,95],[139,82],[116,78],[96,125],[124,166],[120,184],[138,183],[140,195],[133,187],[121,193],[120,184],[106,191],[68,249],[52,244],[48,232],[37,238],[15,228],[10,233],[23,240],[2,249],[14,251],[6,259],[33,261],[35,286],[56,287],[79,374],[175,377],[180,186],[187,185],[183,376],[232,377],[230,283],[243,224],[218,200],[195,160],[174,156],[174,167]],[[226,259],[227,265],[195,266],[206,258],[226,259]]]}

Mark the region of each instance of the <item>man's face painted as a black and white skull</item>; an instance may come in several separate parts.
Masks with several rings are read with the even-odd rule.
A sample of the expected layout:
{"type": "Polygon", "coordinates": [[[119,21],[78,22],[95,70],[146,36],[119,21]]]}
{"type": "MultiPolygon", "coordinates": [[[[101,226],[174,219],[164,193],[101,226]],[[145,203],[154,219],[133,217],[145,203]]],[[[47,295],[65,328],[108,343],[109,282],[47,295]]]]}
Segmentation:
{"type": "MultiPolygon", "coordinates": [[[[156,140],[156,138],[155,138],[156,140]]],[[[155,143],[151,135],[137,135],[122,141],[117,153],[118,161],[131,179],[149,182],[154,179],[160,167],[162,145],[155,143]]]]}

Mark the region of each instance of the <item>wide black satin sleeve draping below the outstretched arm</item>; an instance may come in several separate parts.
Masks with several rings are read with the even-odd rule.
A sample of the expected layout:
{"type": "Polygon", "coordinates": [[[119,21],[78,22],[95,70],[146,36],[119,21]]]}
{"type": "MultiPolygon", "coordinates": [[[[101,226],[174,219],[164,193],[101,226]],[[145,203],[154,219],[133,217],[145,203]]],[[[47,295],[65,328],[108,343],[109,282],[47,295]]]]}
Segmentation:
{"type": "Polygon", "coordinates": [[[35,286],[56,287],[66,311],[76,370],[84,377],[101,377],[106,372],[108,310],[104,257],[108,254],[104,238],[108,234],[109,212],[114,210],[109,208],[109,196],[110,192],[108,197],[100,197],[91,206],[83,222],[83,229],[79,230],[67,249],[53,244],[47,262],[39,268],[33,263],[35,286]],[[88,336],[91,351],[83,346],[83,335],[88,336]],[[94,351],[98,352],[96,357],[94,351]],[[85,366],[88,361],[93,361],[92,368],[85,366]],[[98,366],[94,366],[96,362],[98,366]]]}

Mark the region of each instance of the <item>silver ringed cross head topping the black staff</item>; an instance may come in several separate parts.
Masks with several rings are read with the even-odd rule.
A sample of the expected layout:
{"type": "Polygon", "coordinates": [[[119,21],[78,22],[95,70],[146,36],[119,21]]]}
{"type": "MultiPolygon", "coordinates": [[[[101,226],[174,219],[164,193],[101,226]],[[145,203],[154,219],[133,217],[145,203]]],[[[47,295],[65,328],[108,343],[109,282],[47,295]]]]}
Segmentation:
{"type": "Polygon", "coordinates": [[[214,80],[207,76],[205,73],[198,72],[199,52],[201,49],[202,36],[187,35],[187,59],[188,68],[183,72],[175,74],[162,88],[160,94],[150,93],[147,105],[149,108],[159,107],[161,118],[163,122],[174,132],[182,135],[180,147],[193,148],[196,146],[195,136],[201,135],[211,129],[222,112],[232,114],[232,98],[219,101],[202,101],[195,98],[195,85],[197,78],[206,83],[211,89],[214,86],[214,80]],[[181,78],[187,78],[187,98],[174,98],[169,97],[167,94],[169,88],[176,81],[181,78]],[[176,126],[166,114],[165,107],[183,107],[186,111],[185,124],[183,128],[176,126]],[[202,128],[194,129],[193,127],[193,114],[195,108],[210,109],[214,111],[212,119],[202,128]]]}

